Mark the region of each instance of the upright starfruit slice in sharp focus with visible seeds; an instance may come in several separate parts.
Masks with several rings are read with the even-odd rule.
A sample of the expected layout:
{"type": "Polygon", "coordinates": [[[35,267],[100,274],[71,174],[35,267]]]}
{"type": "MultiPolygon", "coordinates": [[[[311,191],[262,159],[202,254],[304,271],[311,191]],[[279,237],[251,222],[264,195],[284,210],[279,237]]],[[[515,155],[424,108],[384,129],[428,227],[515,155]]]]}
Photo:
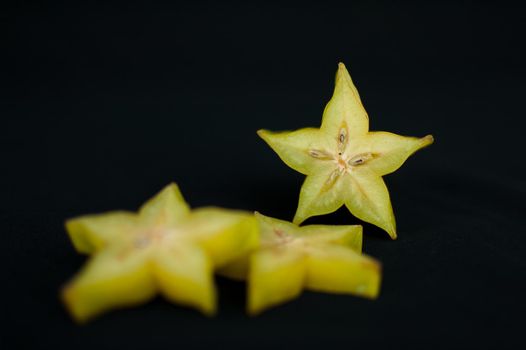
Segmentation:
{"type": "Polygon", "coordinates": [[[343,63],[321,127],[258,134],[292,169],[307,175],[293,222],[300,224],[345,205],[359,219],[396,238],[396,225],[383,175],[397,170],[433,136],[405,137],[370,132],[369,118],[343,63]]]}

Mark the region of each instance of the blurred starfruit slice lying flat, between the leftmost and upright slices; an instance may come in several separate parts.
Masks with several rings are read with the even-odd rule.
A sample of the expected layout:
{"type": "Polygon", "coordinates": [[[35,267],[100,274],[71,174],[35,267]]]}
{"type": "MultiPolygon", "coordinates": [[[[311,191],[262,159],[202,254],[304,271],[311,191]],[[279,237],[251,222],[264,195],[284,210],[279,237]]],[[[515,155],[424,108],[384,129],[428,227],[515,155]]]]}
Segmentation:
{"type": "Polygon", "coordinates": [[[308,225],[256,213],[260,236],[257,248],[219,272],[247,279],[247,311],[261,311],[297,297],[306,288],[376,298],[381,265],[361,254],[359,225],[308,225]]]}

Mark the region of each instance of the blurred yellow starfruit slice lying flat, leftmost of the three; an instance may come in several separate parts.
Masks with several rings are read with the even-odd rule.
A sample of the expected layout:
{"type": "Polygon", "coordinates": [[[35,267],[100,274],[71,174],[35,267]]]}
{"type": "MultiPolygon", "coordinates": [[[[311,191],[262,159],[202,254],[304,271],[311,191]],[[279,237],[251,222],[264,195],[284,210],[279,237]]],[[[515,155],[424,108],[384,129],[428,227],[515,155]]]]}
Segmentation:
{"type": "Polygon", "coordinates": [[[68,220],[75,248],[92,255],[62,289],[79,322],[114,308],[143,303],[158,292],[211,315],[213,271],[254,245],[251,213],[214,207],[190,210],[176,184],[138,213],[109,212],[68,220]]]}

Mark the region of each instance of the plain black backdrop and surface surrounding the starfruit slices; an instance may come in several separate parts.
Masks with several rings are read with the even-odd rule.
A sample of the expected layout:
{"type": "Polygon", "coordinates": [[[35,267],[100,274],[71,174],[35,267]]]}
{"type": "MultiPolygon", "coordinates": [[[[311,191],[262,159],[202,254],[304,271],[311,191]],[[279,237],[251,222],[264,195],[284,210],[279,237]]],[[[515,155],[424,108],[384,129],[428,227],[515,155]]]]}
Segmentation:
{"type": "MultiPolygon", "coordinates": [[[[523,337],[525,32],[502,2],[19,2],[2,10],[6,349],[507,348],[523,337]],[[208,319],[161,298],[75,325],[85,258],[66,218],[135,210],[170,181],[194,207],[291,219],[303,176],[255,134],[318,126],[339,61],[371,129],[432,133],[387,176],[399,239],[365,225],[377,301],[305,292],[256,318],[218,279],[208,319]]],[[[357,223],[345,210],[307,223],[357,223]]]]}

